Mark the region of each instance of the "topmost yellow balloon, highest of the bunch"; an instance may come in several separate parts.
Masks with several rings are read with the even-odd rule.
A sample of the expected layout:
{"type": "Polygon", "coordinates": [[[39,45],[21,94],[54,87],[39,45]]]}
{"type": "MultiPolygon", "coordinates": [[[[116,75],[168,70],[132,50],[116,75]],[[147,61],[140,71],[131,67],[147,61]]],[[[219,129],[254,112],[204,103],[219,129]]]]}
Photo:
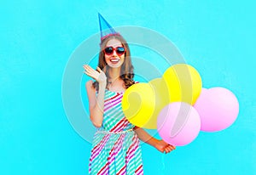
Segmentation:
{"type": "Polygon", "coordinates": [[[177,64],[169,67],[163,79],[168,88],[170,102],[195,104],[202,88],[201,76],[191,65],[177,64]]]}

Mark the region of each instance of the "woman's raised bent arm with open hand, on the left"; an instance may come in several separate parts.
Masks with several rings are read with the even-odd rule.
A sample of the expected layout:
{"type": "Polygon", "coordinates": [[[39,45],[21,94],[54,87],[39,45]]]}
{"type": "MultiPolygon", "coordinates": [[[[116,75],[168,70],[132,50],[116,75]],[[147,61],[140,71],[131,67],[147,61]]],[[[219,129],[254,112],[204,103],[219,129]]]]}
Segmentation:
{"type": "Polygon", "coordinates": [[[85,88],[89,99],[90,121],[96,127],[102,127],[103,111],[104,111],[104,96],[107,85],[107,78],[104,72],[97,68],[93,70],[89,65],[84,65],[84,73],[97,82],[99,82],[98,94],[96,96],[96,90],[92,86],[92,81],[86,82],[85,88]]]}

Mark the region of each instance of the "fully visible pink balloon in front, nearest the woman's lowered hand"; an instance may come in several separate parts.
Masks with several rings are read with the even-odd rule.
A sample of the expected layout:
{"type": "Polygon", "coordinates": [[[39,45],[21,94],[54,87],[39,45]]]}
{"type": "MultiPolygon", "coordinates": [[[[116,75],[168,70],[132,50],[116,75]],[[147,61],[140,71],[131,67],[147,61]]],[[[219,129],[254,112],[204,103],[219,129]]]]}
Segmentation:
{"type": "Polygon", "coordinates": [[[184,102],[167,104],[157,118],[157,130],[168,144],[191,143],[200,132],[200,116],[193,106],[184,102]]]}

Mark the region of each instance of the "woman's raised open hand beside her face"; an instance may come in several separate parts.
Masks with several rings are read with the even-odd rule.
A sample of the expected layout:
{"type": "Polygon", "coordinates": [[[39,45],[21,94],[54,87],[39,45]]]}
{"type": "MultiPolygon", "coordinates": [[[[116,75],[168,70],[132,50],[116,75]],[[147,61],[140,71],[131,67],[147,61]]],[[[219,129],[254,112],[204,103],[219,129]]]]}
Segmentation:
{"type": "Polygon", "coordinates": [[[95,79],[97,82],[99,82],[99,84],[107,83],[107,76],[105,75],[104,71],[102,71],[99,67],[94,70],[90,67],[90,65],[84,65],[84,73],[87,76],[95,79]]]}

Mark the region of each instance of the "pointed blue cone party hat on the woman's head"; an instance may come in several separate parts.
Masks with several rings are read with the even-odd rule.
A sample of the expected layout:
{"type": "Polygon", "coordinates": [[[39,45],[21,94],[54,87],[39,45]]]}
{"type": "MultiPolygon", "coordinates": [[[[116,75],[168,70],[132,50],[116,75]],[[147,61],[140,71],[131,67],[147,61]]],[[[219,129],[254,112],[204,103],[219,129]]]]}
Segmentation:
{"type": "Polygon", "coordinates": [[[113,27],[108,24],[107,20],[103,18],[102,14],[98,13],[98,16],[101,29],[101,41],[109,36],[120,35],[118,32],[113,30],[113,27]]]}

